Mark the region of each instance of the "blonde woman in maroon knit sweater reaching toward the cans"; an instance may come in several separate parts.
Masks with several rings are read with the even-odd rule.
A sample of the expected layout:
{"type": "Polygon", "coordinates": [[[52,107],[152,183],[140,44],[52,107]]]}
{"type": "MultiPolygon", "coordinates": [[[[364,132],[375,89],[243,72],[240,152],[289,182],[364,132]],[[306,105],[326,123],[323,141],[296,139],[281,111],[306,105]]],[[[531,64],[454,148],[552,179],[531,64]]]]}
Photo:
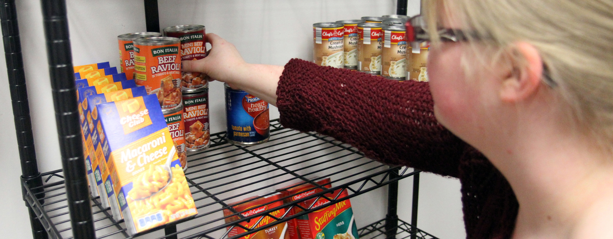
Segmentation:
{"type": "Polygon", "coordinates": [[[425,9],[430,83],[246,64],[215,34],[183,68],[278,106],[285,127],[458,177],[468,238],[613,238],[613,1],[425,9]]]}

